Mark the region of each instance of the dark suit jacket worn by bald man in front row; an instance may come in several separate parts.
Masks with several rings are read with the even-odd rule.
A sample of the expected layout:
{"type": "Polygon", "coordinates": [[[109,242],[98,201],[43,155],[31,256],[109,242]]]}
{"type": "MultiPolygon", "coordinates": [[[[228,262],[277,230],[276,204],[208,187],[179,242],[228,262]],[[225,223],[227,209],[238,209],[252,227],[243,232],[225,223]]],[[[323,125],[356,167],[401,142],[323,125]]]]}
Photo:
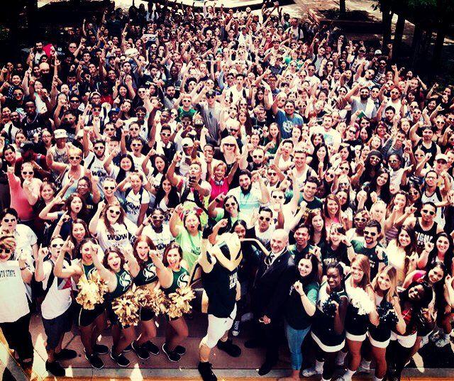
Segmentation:
{"type": "Polygon", "coordinates": [[[253,286],[253,311],[255,316],[276,319],[283,314],[296,265],[287,249],[277,257],[270,267],[262,258],[253,286]]]}

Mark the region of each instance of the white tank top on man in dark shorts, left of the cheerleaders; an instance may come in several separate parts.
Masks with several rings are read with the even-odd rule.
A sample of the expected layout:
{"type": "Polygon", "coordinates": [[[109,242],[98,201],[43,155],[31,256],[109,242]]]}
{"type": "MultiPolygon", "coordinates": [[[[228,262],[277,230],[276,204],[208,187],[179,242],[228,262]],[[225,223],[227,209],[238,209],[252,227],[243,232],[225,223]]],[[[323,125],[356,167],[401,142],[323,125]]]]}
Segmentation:
{"type": "MultiPolygon", "coordinates": [[[[66,263],[65,263],[66,265],[66,263]]],[[[50,272],[52,271],[52,264],[50,260],[43,263],[43,272],[45,278],[43,280],[43,289],[48,287],[50,272]]],[[[46,294],[43,303],[41,304],[41,314],[44,319],[50,320],[62,315],[70,308],[71,305],[71,278],[60,279],[54,277],[52,285],[46,294]]]]}

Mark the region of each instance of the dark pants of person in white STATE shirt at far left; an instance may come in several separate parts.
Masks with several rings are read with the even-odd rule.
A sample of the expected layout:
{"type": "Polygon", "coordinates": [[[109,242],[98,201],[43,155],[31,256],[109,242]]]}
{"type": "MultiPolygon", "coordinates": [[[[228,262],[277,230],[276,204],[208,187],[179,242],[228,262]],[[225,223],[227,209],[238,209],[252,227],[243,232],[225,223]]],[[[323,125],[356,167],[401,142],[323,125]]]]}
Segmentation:
{"type": "Polygon", "coordinates": [[[0,323],[9,348],[16,350],[20,360],[31,358],[33,360],[33,343],[30,334],[31,314],[22,316],[13,323],[0,323]]]}

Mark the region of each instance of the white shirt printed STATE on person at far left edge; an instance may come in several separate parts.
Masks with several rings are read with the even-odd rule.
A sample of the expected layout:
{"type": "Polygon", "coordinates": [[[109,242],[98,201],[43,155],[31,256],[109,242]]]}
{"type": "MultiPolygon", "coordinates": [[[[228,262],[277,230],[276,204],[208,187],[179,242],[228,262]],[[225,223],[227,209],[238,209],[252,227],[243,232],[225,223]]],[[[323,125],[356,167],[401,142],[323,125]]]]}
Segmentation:
{"type": "Polygon", "coordinates": [[[13,323],[29,312],[18,261],[0,262],[0,323],[13,323]]]}

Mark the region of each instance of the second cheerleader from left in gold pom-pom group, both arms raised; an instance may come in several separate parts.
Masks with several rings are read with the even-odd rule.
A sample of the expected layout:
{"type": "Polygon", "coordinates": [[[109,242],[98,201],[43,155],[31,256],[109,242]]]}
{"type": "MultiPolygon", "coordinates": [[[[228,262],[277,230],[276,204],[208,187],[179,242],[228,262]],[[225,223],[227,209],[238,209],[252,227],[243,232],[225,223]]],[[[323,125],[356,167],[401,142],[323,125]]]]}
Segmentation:
{"type": "Polygon", "coordinates": [[[118,321],[111,303],[114,299],[128,292],[128,289],[133,285],[133,278],[140,271],[132,250],[124,250],[124,253],[125,255],[121,253],[119,248],[109,248],[104,253],[102,263],[97,255],[92,255],[94,267],[96,267],[101,279],[105,280],[109,287],[107,309],[112,323],[112,339],[114,341],[114,346],[111,348],[111,359],[122,368],[126,368],[130,364],[128,358],[123,355],[123,350],[135,340],[135,329],[133,326],[123,326],[118,321]]]}

